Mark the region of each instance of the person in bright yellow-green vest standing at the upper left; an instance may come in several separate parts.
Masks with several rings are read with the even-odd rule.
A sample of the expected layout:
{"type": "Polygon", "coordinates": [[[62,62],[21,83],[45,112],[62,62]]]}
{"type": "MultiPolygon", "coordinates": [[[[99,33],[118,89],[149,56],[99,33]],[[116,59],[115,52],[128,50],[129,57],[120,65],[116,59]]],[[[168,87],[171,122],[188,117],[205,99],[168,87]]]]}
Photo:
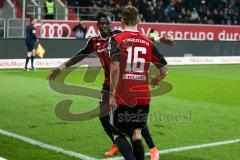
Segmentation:
{"type": "Polygon", "coordinates": [[[45,19],[55,19],[56,6],[53,0],[45,0],[44,2],[45,19]]]}

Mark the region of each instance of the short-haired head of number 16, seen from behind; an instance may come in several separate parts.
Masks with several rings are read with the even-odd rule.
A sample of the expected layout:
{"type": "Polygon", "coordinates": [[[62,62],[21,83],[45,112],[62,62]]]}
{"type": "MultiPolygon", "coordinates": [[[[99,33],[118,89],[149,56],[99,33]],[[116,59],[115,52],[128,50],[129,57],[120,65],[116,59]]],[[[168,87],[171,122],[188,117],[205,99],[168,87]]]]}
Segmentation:
{"type": "Polygon", "coordinates": [[[122,11],[122,19],[127,26],[135,26],[138,21],[138,10],[133,6],[126,6],[122,11]]]}

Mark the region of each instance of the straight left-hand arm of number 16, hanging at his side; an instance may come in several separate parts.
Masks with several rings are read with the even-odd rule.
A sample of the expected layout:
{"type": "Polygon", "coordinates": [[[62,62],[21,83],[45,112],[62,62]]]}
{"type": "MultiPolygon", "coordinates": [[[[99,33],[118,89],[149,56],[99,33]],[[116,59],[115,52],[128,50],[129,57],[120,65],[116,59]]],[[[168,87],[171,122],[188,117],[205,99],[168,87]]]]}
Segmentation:
{"type": "Polygon", "coordinates": [[[115,91],[117,88],[120,73],[120,50],[114,37],[110,40],[110,98],[109,105],[112,108],[117,106],[115,91]]]}

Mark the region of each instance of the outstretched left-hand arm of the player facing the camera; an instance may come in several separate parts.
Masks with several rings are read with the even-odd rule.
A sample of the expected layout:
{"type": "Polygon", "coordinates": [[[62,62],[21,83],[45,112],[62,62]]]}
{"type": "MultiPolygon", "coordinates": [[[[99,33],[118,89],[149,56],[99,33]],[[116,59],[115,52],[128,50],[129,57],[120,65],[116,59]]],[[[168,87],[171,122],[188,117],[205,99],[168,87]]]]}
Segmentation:
{"type": "Polygon", "coordinates": [[[82,61],[84,58],[86,58],[93,51],[94,51],[93,39],[90,38],[83,49],[81,49],[79,52],[77,52],[77,54],[75,54],[68,61],[61,64],[58,68],[54,69],[49,74],[48,79],[49,80],[55,79],[63,70],[77,64],[80,61],[82,61]]]}

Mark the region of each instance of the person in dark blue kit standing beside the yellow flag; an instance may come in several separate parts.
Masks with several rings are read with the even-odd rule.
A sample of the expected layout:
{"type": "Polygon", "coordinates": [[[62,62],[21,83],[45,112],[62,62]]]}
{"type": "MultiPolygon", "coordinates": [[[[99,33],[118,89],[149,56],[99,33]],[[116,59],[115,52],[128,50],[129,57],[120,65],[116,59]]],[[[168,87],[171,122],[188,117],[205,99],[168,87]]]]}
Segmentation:
{"type": "Polygon", "coordinates": [[[31,18],[29,22],[30,23],[26,28],[26,38],[25,38],[25,44],[28,49],[25,67],[24,67],[25,71],[28,71],[27,65],[30,59],[31,59],[31,69],[34,70],[33,63],[35,58],[35,46],[37,42],[36,28],[34,27],[34,25],[36,24],[36,19],[31,18]]]}

